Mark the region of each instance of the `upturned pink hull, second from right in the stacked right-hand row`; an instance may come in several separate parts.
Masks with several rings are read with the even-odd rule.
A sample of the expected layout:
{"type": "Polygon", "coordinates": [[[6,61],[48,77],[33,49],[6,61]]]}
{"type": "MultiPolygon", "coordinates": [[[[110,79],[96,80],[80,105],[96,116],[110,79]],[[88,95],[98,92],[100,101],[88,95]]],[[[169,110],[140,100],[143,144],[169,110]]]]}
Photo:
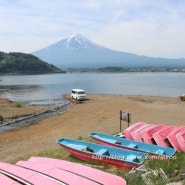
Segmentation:
{"type": "Polygon", "coordinates": [[[178,132],[182,131],[183,129],[185,129],[185,126],[180,126],[180,127],[176,127],[174,130],[172,130],[172,132],[167,136],[169,142],[171,143],[171,145],[178,151],[181,152],[181,146],[179,145],[177,138],[176,138],[176,134],[178,134],[178,132]]]}

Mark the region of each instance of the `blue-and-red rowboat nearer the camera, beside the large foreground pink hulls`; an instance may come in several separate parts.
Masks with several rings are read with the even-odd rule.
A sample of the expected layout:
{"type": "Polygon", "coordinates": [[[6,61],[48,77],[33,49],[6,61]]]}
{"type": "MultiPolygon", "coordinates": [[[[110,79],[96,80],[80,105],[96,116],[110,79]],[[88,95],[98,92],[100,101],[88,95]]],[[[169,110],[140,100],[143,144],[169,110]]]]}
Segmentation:
{"type": "Polygon", "coordinates": [[[71,155],[96,163],[114,166],[118,169],[130,170],[143,164],[148,154],[143,152],[120,149],[96,143],[60,138],[56,141],[71,155]]]}

